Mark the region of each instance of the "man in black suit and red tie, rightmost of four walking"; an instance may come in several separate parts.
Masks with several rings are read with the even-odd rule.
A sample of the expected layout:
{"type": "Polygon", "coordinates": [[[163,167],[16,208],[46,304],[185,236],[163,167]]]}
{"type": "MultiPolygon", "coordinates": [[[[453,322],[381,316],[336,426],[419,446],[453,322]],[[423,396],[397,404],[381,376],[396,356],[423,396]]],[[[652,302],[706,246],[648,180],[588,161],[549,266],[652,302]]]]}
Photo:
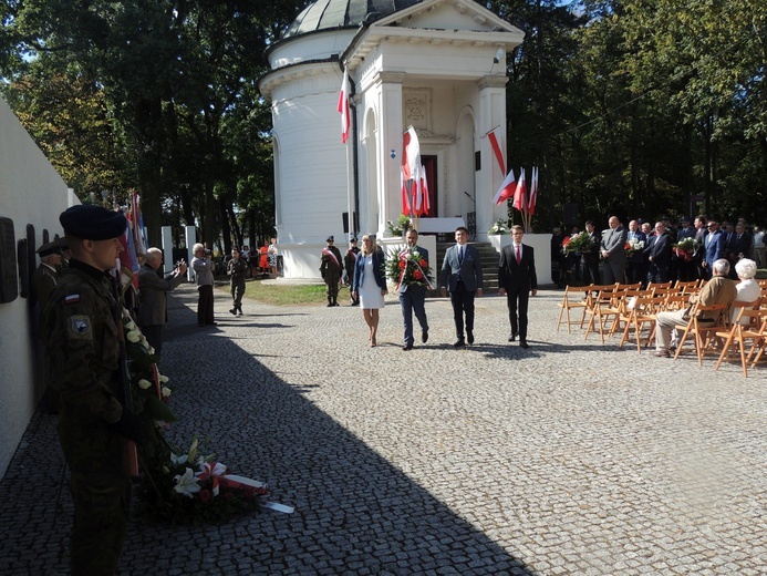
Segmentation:
{"type": "Polygon", "coordinates": [[[538,277],[532,247],[522,244],[522,236],[525,236],[525,229],[521,226],[512,226],[514,243],[504,246],[500,250],[498,294],[506,295],[506,304],[509,308],[511,323],[509,342],[514,342],[519,336],[519,346],[530,348],[527,343],[527,305],[529,296],[538,294],[538,277]]]}

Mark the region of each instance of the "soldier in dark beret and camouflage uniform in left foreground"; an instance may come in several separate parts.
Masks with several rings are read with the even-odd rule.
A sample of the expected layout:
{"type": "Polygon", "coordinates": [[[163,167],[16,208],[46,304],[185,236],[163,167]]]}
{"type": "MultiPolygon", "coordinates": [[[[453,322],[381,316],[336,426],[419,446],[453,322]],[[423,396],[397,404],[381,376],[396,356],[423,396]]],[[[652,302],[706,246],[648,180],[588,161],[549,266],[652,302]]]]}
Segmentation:
{"type": "Polygon", "coordinates": [[[125,440],[141,442],[138,418],[120,399],[120,302],[108,271],[127,220],[101,206],[59,217],[72,260],[43,311],[50,385],[60,394],[59,440],[71,470],[74,524],[70,574],[113,575],[131,505],[125,440]]]}

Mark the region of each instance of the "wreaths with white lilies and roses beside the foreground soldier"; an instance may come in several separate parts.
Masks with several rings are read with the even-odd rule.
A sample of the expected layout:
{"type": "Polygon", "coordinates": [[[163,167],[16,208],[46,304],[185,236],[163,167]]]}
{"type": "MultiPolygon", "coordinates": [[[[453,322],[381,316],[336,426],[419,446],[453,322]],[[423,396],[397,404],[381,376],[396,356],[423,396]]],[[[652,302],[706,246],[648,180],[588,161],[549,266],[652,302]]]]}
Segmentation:
{"type": "MultiPolygon", "coordinates": [[[[144,441],[138,446],[142,479],[138,510],[174,524],[221,522],[251,512],[268,494],[265,483],[231,474],[203,455],[194,436],[188,450],[172,446],[163,433],[176,416],[169,408],[168,378],[157,370],[157,356],[123,309],[133,412],[141,418],[144,441]]],[[[206,445],[207,445],[206,441],[206,445]]]]}

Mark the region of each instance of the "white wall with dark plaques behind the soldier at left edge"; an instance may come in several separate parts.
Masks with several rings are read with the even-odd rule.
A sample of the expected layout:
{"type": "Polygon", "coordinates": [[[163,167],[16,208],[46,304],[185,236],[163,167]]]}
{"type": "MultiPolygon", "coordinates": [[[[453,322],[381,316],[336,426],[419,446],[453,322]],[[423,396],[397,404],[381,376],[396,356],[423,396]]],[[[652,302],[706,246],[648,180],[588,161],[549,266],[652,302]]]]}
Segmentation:
{"type": "MultiPolygon", "coordinates": [[[[27,237],[28,224],[35,228],[35,249],[43,229],[51,239],[62,235],[59,215],[79,203],[0,99],[0,216],[13,220],[15,240],[27,237]]],[[[27,298],[0,304],[0,474],[40,400],[41,391],[34,384],[32,322],[27,298]]]]}

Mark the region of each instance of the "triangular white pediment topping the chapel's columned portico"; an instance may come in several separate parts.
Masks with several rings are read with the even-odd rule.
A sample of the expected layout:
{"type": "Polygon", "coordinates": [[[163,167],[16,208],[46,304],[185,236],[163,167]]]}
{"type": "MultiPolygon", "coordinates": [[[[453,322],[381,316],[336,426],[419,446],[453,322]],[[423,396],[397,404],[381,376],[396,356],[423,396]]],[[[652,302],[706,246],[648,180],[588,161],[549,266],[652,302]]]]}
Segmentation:
{"type": "Polygon", "coordinates": [[[518,28],[471,0],[426,0],[382,18],[372,27],[522,34],[518,28]]]}

